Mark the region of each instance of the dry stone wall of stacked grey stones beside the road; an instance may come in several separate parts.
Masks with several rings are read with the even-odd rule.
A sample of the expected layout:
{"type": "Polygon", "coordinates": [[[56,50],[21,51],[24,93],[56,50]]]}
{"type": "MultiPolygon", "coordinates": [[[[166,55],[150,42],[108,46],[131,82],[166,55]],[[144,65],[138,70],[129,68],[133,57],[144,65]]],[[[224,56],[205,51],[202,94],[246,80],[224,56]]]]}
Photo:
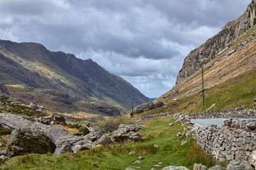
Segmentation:
{"type": "Polygon", "coordinates": [[[252,152],[256,150],[256,131],[250,130],[246,125],[252,125],[256,120],[228,120],[226,125],[217,127],[209,125],[208,127],[195,128],[193,133],[197,145],[213,155],[215,160],[220,162],[239,159],[250,161],[252,152]],[[231,121],[231,123],[230,123],[231,121]]]}

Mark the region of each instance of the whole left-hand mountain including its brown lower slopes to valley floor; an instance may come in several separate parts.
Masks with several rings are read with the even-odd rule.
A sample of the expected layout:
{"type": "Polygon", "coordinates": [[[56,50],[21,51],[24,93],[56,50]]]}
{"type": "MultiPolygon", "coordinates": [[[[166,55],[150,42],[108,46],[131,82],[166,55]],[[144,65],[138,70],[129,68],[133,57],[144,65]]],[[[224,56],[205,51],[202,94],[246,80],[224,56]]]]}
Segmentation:
{"type": "Polygon", "coordinates": [[[0,40],[0,80],[21,101],[53,111],[97,110],[112,115],[112,111],[118,113],[117,108],[129,109],[132,101],[134,105],[150,101],[96,62],[50,52],[33,42],[0,40]]]}

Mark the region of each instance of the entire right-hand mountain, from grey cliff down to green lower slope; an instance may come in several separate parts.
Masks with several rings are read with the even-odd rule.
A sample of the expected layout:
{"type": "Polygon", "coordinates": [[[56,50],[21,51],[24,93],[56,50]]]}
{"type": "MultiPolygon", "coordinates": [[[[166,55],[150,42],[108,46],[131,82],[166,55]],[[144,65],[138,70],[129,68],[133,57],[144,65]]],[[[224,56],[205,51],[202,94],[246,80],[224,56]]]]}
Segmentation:
{"type": "Polygon", "coordinates": [[[203,111],[202,68],[205,111],[252,108],[256,97],[256,0],[235,21],[192,50],[178,72],[176,86],[156,101],[165,106],[153,113],[203,111]]]}

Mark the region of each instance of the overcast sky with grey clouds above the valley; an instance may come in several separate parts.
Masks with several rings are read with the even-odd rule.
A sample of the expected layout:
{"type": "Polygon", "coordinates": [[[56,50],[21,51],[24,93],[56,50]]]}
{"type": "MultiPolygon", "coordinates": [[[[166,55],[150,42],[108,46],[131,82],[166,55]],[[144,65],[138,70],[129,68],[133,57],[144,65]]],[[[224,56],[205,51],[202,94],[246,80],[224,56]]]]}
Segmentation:
{"type": "Polygon", "coordinates": [[[149,97],[250,0],[0,0],[0,39],[91,58],[149,97]]]}

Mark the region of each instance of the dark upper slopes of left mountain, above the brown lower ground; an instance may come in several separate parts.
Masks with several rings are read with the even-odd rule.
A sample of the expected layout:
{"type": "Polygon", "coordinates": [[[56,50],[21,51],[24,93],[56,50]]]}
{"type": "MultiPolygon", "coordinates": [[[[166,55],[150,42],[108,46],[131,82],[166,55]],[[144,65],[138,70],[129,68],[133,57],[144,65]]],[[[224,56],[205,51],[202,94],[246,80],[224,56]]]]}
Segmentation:
{"type": "Polygon", "coordinates": [[[129,108],[132,101],[134,105],[150,101],[129,82],[96,62],[64,52],[50,52],[39,43],[0,40],[0,58],[3,84],[53,89],[80,98],[79,101],[97,99],[124,108],[129,108]]]}

